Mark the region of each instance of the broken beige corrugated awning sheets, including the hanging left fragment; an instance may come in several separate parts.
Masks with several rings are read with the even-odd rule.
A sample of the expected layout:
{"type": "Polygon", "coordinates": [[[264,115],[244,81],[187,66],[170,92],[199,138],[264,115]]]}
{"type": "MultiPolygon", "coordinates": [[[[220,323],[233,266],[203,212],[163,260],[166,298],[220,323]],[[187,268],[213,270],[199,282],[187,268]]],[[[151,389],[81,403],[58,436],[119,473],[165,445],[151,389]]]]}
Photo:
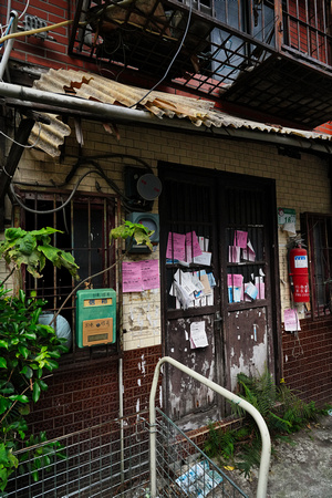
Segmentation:
{"type": "MultiPolygon", "coordinates": [[[[187,97],[165,92],[148,92],[145,89],[125,85],[97,74],[73,70],[53,70],[44,73],[34,82],[35,89],[44,92],[76,95],[111,105],[143,108],[158,118],[185,118],[195,126],[245,128],[269,134],[293,135],[304,139],[331,141],[332,136],[294,129],[280,125],[264,124],[236,117],[215,108],[215,103],[207,100],[187,97]]],[[[51,117],[50,125],[37,124],[29,142],[38,141],[38,146],[51,156],[60,155],[59,146],[70,134],[70,127],[56,116],[51,117]]]]}

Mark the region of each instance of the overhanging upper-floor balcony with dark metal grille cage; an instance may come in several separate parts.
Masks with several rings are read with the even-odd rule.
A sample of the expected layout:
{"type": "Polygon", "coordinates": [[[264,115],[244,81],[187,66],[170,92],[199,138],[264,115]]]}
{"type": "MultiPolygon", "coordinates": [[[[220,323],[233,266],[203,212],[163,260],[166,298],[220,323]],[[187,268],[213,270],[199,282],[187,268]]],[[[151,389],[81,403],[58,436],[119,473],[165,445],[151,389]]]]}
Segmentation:
{"type": "Polygon", "coordinates": [[[95,61],[102,74],[111,71],[118,81],[127,82],[129,74],[141,85],[163,81],[283,120],[299,113],[295,121],[315,126],[331,116],[331,110],[321,110],[320,90],[331,86],[332,77],[326,4],[324,0],[77,0],[70,53],[95,61]],[[309,83],[304,93],[303,79],[309,83]],[[281,92],[286,85],[300,92],[298,106],[290,106],[288,92],[281,92]],[[318,98],[310,104],[313,89],[318,98]],[[309,104],[309,114],[303,114],[303,104],[309,104]]]}

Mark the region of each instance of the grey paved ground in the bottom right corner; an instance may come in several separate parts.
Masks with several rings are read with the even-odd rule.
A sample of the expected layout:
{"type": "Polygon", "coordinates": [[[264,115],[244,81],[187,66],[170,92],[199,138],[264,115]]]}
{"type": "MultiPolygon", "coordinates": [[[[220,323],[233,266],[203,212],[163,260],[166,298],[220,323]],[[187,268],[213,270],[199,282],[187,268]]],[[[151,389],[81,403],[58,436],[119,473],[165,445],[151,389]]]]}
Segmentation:
{"type": "MultiPolygon", "coordinates": [[[[332,498],[332,416],[292,436],[294,445],[282,443],[271,457],[268,498],[332,498]]],[[[251,498],[257,476],[246,479],[235,471],[230,478],[251,498]]]]}

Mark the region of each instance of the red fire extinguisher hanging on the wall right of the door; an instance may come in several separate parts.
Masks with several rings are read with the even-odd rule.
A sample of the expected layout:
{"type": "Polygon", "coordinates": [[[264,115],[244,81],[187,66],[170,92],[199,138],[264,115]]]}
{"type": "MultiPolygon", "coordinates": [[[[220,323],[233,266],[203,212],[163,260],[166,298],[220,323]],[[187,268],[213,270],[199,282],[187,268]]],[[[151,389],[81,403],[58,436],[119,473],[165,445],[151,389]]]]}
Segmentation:
{"type": "Polygon", "coordinates": [[[290,250],[290,278],[294,302],[309,302],[308,252],[301,246],[290,250]]]}

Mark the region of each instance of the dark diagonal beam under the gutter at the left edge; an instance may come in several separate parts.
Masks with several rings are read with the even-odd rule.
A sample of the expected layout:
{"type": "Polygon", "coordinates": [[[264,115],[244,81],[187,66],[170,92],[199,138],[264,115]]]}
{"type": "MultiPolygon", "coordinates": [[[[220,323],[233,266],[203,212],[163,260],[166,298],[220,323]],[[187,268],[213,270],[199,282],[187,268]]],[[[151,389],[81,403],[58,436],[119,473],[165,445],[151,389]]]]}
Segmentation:
{"type": "Polygon", "coordinates": [[[32,118],[22,120],[19,125],[15,142],[12,143],[6,164],[2,165],[0,169],[0,203],[7,194],[9,184],[17,170],[18,164],[20,163],[24,151],[24,147],[19,144],[22,144],[23,146],[27,145],[33,125],[34,120],[32,118]]]}

